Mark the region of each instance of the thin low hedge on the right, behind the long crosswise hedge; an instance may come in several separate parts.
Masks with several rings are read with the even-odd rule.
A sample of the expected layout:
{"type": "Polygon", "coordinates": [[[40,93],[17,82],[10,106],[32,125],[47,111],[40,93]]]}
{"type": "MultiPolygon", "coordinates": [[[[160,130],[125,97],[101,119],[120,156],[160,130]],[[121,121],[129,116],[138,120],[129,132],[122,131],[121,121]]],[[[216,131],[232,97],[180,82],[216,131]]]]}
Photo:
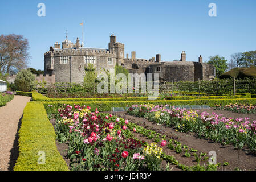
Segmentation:
{"type": "Polygon", "coordinates": [[[237,96],[177,96],[166,97],[166,100],[194,100],[194,99],[229,99],[229,98],[250,98],[251,95],[237,95],[237,96]]]}

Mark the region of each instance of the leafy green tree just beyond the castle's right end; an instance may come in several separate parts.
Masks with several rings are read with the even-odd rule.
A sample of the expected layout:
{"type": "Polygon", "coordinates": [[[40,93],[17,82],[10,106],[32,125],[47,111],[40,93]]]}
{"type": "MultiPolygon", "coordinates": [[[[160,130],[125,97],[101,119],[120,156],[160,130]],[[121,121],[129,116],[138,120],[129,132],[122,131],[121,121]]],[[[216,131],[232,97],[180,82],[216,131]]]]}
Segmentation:
{"type": "Polygon", "coordinates": [[[227,60],[219,55],[210,56],[208,64],[214,65],[216,68],[216,77],[219,77],[222,73],[227,70],[227,60]]]}

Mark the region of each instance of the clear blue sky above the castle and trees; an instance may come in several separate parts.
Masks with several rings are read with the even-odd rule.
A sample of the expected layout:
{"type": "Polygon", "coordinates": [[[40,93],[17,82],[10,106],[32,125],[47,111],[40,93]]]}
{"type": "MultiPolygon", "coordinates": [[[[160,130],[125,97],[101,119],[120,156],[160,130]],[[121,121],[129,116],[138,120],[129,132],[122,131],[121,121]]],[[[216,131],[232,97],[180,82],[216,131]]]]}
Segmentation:
{"type": "Polygon", "coordinates": [[[255,0],[54,0],[0,1],[0,34],[20,34],[29,40],[30,67],[43,69],[43,54],[54,42],[82,39],[85,47],[108,48],[109,36],[125,44],[125,55],[137,58],[161,54],[164,61],[204,61],[221,55],[256,49],[255,0]],[[39,17],[38,3],[46,5],[39,17]],[[216,3],[217,17],[210,17],[209,3],[216,3]]]}

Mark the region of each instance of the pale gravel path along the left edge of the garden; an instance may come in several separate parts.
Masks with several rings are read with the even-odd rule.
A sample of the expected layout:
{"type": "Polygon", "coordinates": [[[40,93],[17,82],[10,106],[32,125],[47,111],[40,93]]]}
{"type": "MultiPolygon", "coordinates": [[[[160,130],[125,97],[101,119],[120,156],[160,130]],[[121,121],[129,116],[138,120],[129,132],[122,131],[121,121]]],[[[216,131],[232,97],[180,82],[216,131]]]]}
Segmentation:
{"type": "Polygon", "coordinates": [[[0,107],[0,170],[12,170],[18,158],[18,129],[23,109],[30,97],[14,96],[6,106],[0,107]]]}

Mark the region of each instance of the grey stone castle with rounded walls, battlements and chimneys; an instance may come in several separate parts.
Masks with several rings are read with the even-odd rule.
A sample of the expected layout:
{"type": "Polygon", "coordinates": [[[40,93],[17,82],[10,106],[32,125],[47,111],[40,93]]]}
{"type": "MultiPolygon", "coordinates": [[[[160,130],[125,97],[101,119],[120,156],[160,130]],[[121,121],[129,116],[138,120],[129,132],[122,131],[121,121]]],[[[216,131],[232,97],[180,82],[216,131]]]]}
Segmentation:
{"type": "Polygon", "coordinates": [[[92,64],[96,71],[115,68],[119,65],[128,69],[129,73],[159,73],[162,81],[198,81],[211,80],[215,77],[215,67],[202,62],[200,55],[198,62],[186,61],[186,53],[182,51],[181,59],[161,61],[161,55],[157,54],[151,59],[138,59],[136,52],[132,51],[131,57],[124,56],[124,44],[116,42],[116,36],[110,36],[108,49],[86,48],[77,38],[73,44],[68,40],[55,42],[54,47],[44,53],[44,74],[54,75],[55,82],[82,83],[84,68],[92,64]]]}

